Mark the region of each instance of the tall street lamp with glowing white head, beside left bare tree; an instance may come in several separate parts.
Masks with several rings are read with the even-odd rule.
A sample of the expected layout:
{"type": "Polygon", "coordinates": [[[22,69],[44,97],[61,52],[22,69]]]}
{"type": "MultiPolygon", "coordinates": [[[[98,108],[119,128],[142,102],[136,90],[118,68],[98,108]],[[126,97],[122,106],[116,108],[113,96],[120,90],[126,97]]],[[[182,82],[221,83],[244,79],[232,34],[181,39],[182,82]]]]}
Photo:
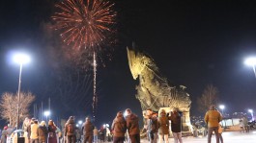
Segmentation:
{"type": "Polygon", "coordinates": [[[25,54],[16,54],[14,55],[14,61],[19,64],[19,77],[18,77],[18,89],[17,89],[17,119],[16,119],[16,129],[19,124],[19,111],[20,111],[20,87],[21,87],[21,73],[22,73],[22,65],[30,62],[30,57],[25,54]]]}

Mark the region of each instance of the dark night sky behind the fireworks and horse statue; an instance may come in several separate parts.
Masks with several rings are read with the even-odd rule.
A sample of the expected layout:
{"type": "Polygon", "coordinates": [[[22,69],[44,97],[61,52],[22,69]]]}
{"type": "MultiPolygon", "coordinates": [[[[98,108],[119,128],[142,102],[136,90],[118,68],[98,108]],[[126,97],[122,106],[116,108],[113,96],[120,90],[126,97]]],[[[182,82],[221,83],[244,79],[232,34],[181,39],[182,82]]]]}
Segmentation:
{"type": "MultiPolygon", "coordinates": [[[[219,103],[226,106],[226,112],[256,110],[256,78],[252,68],[243,64],[246,57],[256,56],[256,2],[113,2],[118,13],[118,42],[113,47],[112,59],[105,60],[105,66],[98,68],[98,124],[111,122],[118,110],[127,107],[141,115],[134,96],[138,81],[132,79],[128,68],[126,48],[131,47],[132,41],[156,61],[162,75],[171,83],[187,87],[192,114],[198,114],[196,98],[210,83],[218,88],[219,103]]],[[[17,90],[19,66],[11,61],[11,53],[22,49],[31,54],[32,62],[23,67],[21,89],[37,96],[35,104],[46,105],[51,97],[53,114],[62,110],[58,114],[61,117],[75,114],[83,119],[91,114],[90,105],[65,112],[58,106],[58,98],[54,98],[59,94],[54,86],[56,77],[61,76],[57,73],[66,69],[62,68],[65,59],[52,59],[56,52],[49,49],[58,50],[56,44],[43,40],[42,27],[51,22],[53,6],[53,0],[0,2],[0,93],[17,90]]],[[[87,74],[92,79],[92,71],[87,74]]],[[[83,100],[92,98],[92,84],[90,88],[83,100]]]]}

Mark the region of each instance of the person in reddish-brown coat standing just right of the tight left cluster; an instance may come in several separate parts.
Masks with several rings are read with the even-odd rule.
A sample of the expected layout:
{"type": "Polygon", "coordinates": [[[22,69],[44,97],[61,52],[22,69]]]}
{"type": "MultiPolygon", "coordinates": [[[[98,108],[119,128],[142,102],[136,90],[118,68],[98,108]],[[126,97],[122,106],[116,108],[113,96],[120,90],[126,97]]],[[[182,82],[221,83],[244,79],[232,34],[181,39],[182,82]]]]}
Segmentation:
{"type": "Polygon", "coordinates": [[[65,136],[67,136],[68,143],[75,143],[76,142],[76,136],[75,136],[75,123],[74,119],[71,116],[67,123],[65,124],[65,136]]]}

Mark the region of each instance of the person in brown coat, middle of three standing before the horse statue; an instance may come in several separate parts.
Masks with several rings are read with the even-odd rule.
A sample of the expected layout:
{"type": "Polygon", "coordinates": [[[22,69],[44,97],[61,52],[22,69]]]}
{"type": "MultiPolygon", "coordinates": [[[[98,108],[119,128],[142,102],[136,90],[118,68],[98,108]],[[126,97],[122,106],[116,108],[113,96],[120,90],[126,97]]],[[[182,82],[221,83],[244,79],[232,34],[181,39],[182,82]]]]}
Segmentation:
{"type": "Polygon", "coordinates": [[[164,109],[159,110],[158,117],[158,142],[162,143],[162,139],[164,139],[165,143],[168,143],[168,135],[169,135],[169,120],[166,116],[166,112],[164,109]]]}

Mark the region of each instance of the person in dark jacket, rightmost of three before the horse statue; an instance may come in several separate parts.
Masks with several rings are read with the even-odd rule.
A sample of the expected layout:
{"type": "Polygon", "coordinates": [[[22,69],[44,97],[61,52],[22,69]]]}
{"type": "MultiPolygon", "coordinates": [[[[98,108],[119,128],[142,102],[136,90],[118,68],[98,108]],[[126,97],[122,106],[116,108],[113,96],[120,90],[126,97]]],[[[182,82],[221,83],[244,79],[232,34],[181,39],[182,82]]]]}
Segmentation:
{"type": "Polygon", "coordinates": [[[173,111],[171,111],[171,116],[169,116],[169,120],[171,120],[171,130],[173,132],[173,138],[175,143],[183,143],[182,139],[182,116],[183,113],[179,111],[178,107],[174,107],[173,111]]]}

